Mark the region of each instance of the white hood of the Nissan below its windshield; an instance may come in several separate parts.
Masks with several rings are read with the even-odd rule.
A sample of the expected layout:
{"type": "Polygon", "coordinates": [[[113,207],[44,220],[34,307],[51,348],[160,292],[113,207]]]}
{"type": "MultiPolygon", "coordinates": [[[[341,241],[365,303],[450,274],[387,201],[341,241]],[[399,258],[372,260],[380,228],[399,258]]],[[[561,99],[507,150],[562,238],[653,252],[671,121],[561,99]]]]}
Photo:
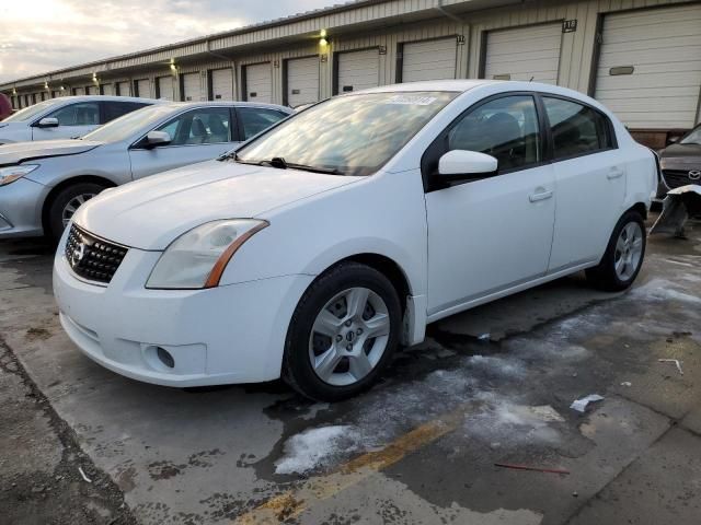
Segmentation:
{"type": "Polygon", "coordinates": [[[80,207],[74,222],[124,246],[162,250],[206,222],[264,218],[274,208],[358,179],[207,161],[108,189],[80,207]]]}

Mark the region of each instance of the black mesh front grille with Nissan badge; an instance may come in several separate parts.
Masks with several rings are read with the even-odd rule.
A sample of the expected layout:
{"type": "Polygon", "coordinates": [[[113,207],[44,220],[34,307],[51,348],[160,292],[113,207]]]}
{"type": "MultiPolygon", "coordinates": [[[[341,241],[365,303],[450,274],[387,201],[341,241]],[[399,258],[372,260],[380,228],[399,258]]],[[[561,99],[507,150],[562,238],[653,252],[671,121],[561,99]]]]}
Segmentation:
{"type": "Polygon", "coordinates": [[[128,248],[104,241],[71,225],[66,243],[66,259],[76,275],[91,281],[110,283],[128,248]]]}

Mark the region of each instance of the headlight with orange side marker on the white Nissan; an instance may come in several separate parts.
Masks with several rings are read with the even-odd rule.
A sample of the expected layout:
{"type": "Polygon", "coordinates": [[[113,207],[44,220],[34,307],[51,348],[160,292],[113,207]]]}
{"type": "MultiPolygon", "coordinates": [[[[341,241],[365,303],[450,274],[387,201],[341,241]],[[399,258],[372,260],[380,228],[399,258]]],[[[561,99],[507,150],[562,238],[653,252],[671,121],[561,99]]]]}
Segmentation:
{"type": "Polygon", "coordinates": [[[267,221],[231,219],[203,224],[165,248],[146,288],[197,290],[214,288],[233,254],[267,221]]]}

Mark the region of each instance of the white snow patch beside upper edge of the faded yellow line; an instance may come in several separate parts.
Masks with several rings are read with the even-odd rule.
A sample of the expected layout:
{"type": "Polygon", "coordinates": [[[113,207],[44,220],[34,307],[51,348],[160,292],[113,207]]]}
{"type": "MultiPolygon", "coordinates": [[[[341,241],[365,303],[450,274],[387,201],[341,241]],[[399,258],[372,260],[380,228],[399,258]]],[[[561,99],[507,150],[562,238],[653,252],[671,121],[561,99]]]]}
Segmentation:
{"type": "Polygon", "coordinates": [[[352,425],[308,429],[285,443],[285,455],[275,463],[276,474],[303,474],[329,465],[341,453],[357,450],[357,430],[352,425]]]}

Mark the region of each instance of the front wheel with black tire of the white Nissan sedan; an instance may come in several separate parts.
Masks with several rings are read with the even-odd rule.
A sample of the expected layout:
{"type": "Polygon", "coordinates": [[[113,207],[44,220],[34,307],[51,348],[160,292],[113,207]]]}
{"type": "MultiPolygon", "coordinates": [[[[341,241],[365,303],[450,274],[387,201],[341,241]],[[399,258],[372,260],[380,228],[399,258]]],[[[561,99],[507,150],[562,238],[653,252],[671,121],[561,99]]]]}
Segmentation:
{"type": "Polygon", "coordinates": [[[389,363],[401,323],[390,280],[368,266],[341,262],[317,278],[299,301],[287,331],[283,378],[319,401],[356,396],[389,363]]]}

